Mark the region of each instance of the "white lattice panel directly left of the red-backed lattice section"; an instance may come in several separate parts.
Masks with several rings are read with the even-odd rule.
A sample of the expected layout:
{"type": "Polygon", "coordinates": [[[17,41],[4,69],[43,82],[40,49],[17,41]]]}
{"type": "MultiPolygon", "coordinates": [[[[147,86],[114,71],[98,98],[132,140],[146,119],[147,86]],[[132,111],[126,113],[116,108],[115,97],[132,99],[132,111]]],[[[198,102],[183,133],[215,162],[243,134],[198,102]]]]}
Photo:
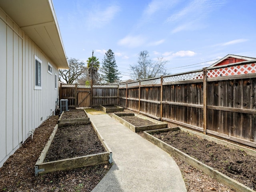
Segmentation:
{"type": "Polygon", "coordinates": [[[184,80],[194,80],[194,79],[202,79],[203,71],[191,72],[186,74],[180,74],[175,76],[163,77],[163,82],[176,82],[176,81],[184,81],[184,80]]]}

